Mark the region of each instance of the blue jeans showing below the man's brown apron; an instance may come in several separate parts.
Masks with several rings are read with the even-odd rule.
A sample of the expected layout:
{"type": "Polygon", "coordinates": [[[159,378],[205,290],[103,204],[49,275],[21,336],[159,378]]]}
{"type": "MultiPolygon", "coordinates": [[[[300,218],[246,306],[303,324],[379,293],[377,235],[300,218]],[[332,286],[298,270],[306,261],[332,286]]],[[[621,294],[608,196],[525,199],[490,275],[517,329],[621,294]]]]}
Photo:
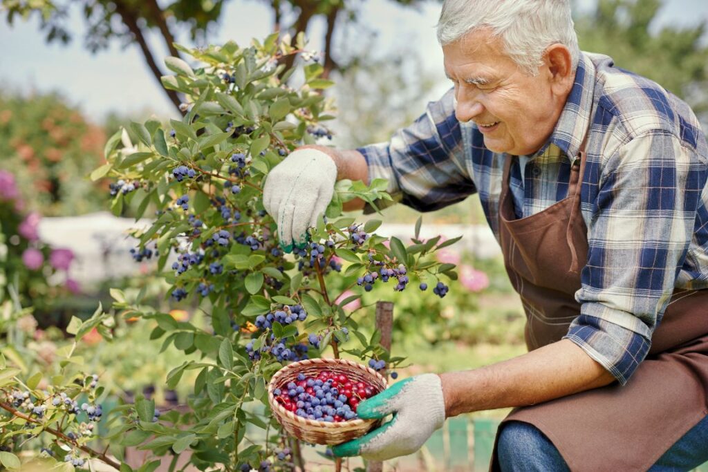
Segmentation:
{"type": "MultiPolygon", "coordinates": [[[[501,428],[497,454],[502,472],[569,470],[558,449],[536,427],[510,421],[501,428]]],[[[707,461],[708,416],[670,447],[649,471],[690,471],[707,461]]]]}

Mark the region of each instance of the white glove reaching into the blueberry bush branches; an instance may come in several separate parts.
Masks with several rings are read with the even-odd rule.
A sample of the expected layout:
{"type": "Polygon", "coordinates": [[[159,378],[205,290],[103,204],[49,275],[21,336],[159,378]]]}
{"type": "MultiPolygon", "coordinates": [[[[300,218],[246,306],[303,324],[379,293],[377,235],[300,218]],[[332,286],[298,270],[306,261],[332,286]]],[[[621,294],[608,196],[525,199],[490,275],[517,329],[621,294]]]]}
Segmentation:
{"type": "Polygon", "coordinates": [[[332,200],[336,178],[332,158],[316,149],[297,149],[268,173],[263,207],[278,224],[285,252],[306,242],[307,228],[316,226],[332,200]]]}

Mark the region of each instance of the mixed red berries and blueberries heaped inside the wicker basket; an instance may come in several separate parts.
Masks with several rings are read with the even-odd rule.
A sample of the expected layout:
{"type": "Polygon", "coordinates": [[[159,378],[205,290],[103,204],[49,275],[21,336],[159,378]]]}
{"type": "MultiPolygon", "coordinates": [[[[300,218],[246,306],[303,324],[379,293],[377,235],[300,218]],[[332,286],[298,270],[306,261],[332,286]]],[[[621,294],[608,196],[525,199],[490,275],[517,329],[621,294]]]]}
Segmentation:
{"type": "Polygon", "coordinates": [[[341,422],[358,418],[356,410],[359,402],[377,392],[366,382],[323,370],[315,377],[297,374],[297,381],[275,388],[273,393],[275,401],[298,416],[341,422]]]}

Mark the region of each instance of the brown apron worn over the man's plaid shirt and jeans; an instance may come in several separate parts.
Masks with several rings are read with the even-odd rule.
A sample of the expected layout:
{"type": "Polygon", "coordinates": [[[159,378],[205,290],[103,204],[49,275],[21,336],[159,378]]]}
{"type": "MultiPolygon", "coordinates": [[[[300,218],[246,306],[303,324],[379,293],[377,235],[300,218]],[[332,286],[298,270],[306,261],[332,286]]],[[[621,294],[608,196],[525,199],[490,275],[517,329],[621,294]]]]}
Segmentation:
{"type": "MultiPolygon", "coordinates": [[[[529,350],[561,340],[580,314],[575,292],[587,260],[580,210],[584,143],[573,159],[568,197],[515,218],[506,156],[500,197],[500,243],[506,270],[527,316],[529,350]]],[[[571,471],[646,471],[708,415],[708,290],[676,290],[651,350],[626,386],[616,382],[538,405],[503,421],[523,421],[553,442],[571,471]]],[[[501,428],[500,428],[501,429],[501,428]]],[[[498,439],[498,437],[497,437],[498,439]]],[[[496,443],[493,470],[498,469],[496,443]]]]}

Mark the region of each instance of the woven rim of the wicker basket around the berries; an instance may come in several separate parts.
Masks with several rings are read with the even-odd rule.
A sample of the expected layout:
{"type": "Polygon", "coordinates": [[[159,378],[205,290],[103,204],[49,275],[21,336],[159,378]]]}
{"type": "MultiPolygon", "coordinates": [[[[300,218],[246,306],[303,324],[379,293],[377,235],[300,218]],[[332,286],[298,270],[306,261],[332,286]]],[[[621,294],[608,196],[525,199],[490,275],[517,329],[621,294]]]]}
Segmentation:
{"type": "Polygon", "coordinates": [[[350,361],[349,359],[331,359],[328,357],[316,357],[315,359],[303,359],[301,361],[293,362],[292,364],[287,364],[285,367],[280,369],[278,372],[275,372],[273,377],[270,379],[270,382],[268,383],[268,403],[270,403],[270,408],[277,408],[278,413],[280,415],[285,416],[285,418],[288,418],[291,421],[299,422],[302,425],[309,425],[309,426],[317,426],[317,427],[325,427],[329,428],[330,430],[341,430],[345,428],[354,428],[354,427],[359,427],[360,425],[364,425],[366,423],[372,423],[376,422],[377,419],[371,419],[371,420],[364,420],[362,418],[356,418],[355,420],[347,420],[347,421],[342,421],[342,422],[329,422],[329,421],[319,421],[319,420],[310,420],[309,418],[304,418],[299,415],[295,415],[295,413],[292,413],[292,411],[285,410],[285,407],[280,405],[277,401],[275,401],[275,394],[273,391],[275,390],[275,385],[278,384],[278,380],[280,377],[285,376],[287,372],[298,369],[299,367],[303,366],[309,366],[309,365],[321,365],[324,366],[326,364],[338,364],[338,365],[346,365],[348,367],[354,367],[355,369],[360,369],[362,371],[368,372],[369,374],[374,375],[375,377],[378,377],[378,379],[381,381],[384,386],[388,385],[388,382],[386,381],[386,378],[376,372],[374,369],[371,367],[367,367],[365,365],[359,364],[358,362],[350,361]]]}

